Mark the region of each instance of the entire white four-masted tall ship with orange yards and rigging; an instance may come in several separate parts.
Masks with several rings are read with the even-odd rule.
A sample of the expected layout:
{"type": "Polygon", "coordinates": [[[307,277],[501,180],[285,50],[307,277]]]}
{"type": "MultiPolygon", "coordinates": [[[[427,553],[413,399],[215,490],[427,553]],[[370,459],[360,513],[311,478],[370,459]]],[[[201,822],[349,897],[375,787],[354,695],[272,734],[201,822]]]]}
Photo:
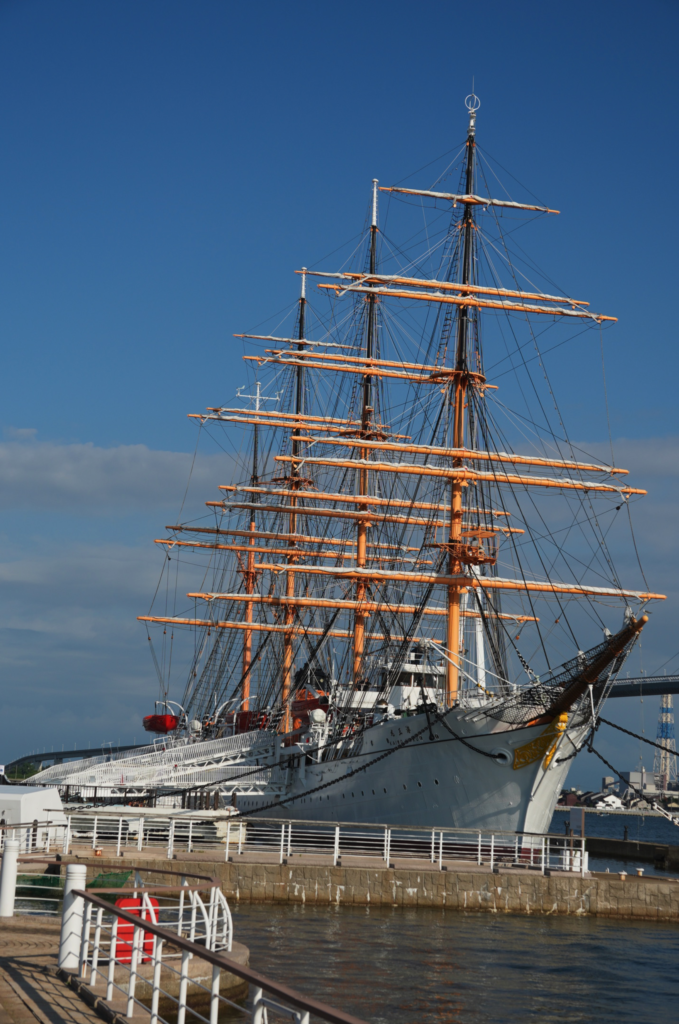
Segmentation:
{"type": "Polygon", "coordinates": [[[182,806],[209,793],[242,814],[547,829],[663,595],[640,565],[643,589],[619,575],[611,541],[645,492],[612,449],[570,439],[545,359],[569,343],[581,354],[560,374],[577,388],[583,336],[603,353],[616,317],[562,294],[516,242],[558,211],[504,189],[477,97],[466,105],[433,184],[375,180],[339,269],[298,269],[287,326],[237,335],[249,383],[194,414],[223,432],[230,479],[156,541],[163,574],[139,616],[156,738],[35,781],[182,806]]]}

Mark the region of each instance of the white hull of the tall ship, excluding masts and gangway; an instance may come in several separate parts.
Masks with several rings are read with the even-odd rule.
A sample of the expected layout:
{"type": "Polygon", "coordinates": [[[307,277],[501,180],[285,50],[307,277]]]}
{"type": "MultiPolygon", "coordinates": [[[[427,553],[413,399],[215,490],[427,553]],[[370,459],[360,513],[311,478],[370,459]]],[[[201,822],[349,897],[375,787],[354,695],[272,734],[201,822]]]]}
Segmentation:
{"type": "MultiPolygon", "coordinates": [[[[264,815],[293,819],[546,831],[570,766],[570,760],[559,759],[572,752],[572,743],[581,736],[569,732],[554,741],[556,748],[550,742],[548,751],[536,760],[515,767],[518,748],[525,749],[535,740],[538,749],[544,748],[544,724],[507,731],[506,726],[484,716],[476,723],[465,722],[465,718],[468,714],[454,712],[447,721],[476,750],[434,723],[433,740],[427,730],[414,742],[360,770],[367,761],[406,739],[408,730],[418,732],[426,724],[424,715],[385,721],[366,730],[358,756],[287,769],[280,806],[271,808],[278,796],[271,791],[239,795],[237,806],[246,814],[261,807],[264,815]],[[497,731],[489,734],[491,729],[497,731]],[[548,759],[549,750],[552,757],[548,759]],[[493,759],[478,751],[503,757],[493,759]],[[309,792],[326,783],[332,784],[309,792]]],[[[304,755],[300,754],[299,760],[303,761],[304,755]]]]}

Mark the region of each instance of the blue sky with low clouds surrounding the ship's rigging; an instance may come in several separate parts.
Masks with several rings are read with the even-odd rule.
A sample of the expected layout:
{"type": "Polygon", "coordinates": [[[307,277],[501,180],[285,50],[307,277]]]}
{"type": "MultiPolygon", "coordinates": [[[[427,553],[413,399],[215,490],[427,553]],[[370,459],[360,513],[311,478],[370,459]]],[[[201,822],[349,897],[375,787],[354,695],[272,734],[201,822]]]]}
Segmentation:
{"type": "MultiPolygon", "coordinates": [[[[362,230],[373,177],[463,138],[472,79],[481,145],[562,211],[532,252],[620,317],[611,429],[652,492],[637,539],[672,597],[643,664],[679,649],[678,29],[671,0],[0,0],[0,762],[140,738],[157,685],[135,615],[184,492],[185,414],[246,382],[232,333],[275,325],[292,271],[362,230]]],[[[560,397],[595,446],[600,371],[578,344],[560,397]]],[[[196,501],[225,472],[206,449],[196,501]]],[[[609,714],[654,734],[656,705],[609,714]]],[[[602,772],[579,759],[570,778],[602,772]]]]}

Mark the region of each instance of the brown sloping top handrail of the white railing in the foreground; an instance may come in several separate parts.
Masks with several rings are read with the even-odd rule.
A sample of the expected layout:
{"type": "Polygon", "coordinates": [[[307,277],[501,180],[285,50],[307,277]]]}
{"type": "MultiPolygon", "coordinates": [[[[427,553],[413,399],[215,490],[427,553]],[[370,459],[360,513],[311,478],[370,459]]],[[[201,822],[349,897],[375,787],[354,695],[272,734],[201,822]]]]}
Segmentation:
{"type": "MultiPolygon", "coordinates": [[[[115,914],[118,920],[122,920],[127,924],[132,925],[134,928],[133,942],[137,948],[139,943],[138,933],[148,932],[162,942],[168,942],[175,948],[180,949],[182,953],[188,953],[189,955],[200,957],[210,964],[213,968],[227,971],[229,974],[236,975],[237,978],[247,981],[250,985],[254,986],[255,990],[266,990],[272,995],[284,999],[291,1007],[301,1010],[305,1014],[314,1014],[314,1016],[321,1017],[325,1021],[329,1021],[330,1024],[365,1024],[365,1021],[362,1021],[358,1017],[353,1017],[351,1014],[344,1013],[342,1010],[335,1010],[333,1007],[328,1006],[328,1004],[314,999],[312,996],[303,995],[301,992],[296,991],[294,988],[290,988],[288,985],[283,985],[278,981],[272,981],[265,975],[260,974],[258,971],[253,971],[252,968],[244,967],[243,965],[238,964],[224,953],[212,952],[204,946],[200,946],[197,943],[192,942],[189,939],[183,938],[183,936],[176,935],[174,932],[161,928],[159,925],[154,924],[153,921],[148,921],[147,919],[142,921],[139,916],[128,913],[121,907],[112,906],[111,903],[98,896],[95,896],[92,892],[82,889],[74,889],[72,890],[72,893],[75,897],[83,899],[101,910],[115,914]]],[[[83,943],[83,946],[85,946],[85,943],[83,943]]],[[[81,954],[81,975],[83,974],[84,965],[85,958],[84,955],[81,954]]],[[[219,999],[218,994],[216,998],[217,1000],[219,999]]],[[[265,1001],[266,1000],[261,999],[261,996],[259,999],[254,1000],[253,1019],[257,1015],[258,1007],[261,1008],[262,1002],[265,1004],[265,1001]]],[[[181,1002],[179,1006],[181,1007],[181,1002]]],[[[261,1010],[259,1012],[261,1013],[261,1010]]]]}

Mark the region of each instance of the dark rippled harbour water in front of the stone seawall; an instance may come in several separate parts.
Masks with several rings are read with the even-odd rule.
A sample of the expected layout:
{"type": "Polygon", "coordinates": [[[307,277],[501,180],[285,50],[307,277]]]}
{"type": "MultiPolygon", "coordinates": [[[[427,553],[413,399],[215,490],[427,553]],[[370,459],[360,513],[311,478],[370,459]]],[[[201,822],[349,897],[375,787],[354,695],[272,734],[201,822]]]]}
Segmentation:
{"type": "Polygon", "coordinates": [[[679,927],[428,907],[239,904],[250,964],[375,1024],[660,1024],[679,927]]]}

